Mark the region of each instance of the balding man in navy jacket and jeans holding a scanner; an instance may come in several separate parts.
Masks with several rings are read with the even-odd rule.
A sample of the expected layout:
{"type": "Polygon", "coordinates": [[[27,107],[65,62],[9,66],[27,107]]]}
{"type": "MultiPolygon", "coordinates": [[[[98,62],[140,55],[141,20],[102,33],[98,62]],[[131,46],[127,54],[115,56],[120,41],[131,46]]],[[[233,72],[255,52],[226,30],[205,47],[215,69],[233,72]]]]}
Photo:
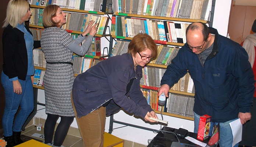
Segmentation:
{"type": "Polygon", "coordinates": [[[220,123],[220,147],[232,147],[229,123],[240,118],[244,124],[251,118],[255,80],[248,54],[216,29],[195,22],[186,29],[186,44],[168,65],[159,94],[168,96],[170,87],[187,71],[195,85],[194,132],[200,116],[210,115],[210,132],[220,123]]]}

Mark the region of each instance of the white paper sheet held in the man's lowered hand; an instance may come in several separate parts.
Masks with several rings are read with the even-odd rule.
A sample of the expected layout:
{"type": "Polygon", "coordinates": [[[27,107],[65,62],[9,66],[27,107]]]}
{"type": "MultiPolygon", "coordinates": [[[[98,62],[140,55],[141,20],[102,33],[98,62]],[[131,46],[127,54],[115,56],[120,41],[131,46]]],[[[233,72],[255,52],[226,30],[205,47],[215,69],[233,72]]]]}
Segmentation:
{"type": "Polygon", "coordinates": [[[240,122],[239,118],[235,121],[230,122],[230,127],[233,135],[232,147],[234,147],[235,144],[239,143],[242,140],[242,126],[243,125],[240,122]]]}

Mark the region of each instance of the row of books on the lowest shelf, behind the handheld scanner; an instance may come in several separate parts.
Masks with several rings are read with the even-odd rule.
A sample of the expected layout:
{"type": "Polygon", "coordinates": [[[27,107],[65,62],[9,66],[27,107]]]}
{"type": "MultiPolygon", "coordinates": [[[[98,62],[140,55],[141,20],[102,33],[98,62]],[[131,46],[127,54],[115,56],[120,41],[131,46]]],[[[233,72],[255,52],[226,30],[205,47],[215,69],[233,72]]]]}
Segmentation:
{"type": "Polygon", "coordinates": [[[153,110],[168,112],[171,114],[194,117],[193,107],[194,107],[194,97],[185,96],[182,94],[169,93],[166,98],[166,103],[163,107],[158,105],[158,92],[157,90],[141,88],[143,96],[147,100],[153,110]]]}

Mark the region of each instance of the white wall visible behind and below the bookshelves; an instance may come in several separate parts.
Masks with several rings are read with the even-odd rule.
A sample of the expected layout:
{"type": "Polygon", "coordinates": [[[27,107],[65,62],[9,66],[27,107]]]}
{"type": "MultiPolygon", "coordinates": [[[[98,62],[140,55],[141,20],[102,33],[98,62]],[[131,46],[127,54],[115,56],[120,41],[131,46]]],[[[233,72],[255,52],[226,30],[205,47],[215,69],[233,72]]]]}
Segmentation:
{"type": "MultiPolygon", "coordinates": [[[[227,30],[228,30],[228,19],[230,14],[230,6],[231,1],[223,1],[223,0],[216,0],[215,4],[215,11],[214,11],[214,19],[213,19],[213,28],[216,28],[218,30],[218,33],[223,36],[227,36],[227,30]]],[[[108,42],[107,42],[108,43],[108,42]]],[[[102,42],[104,44],[104,42],[102,42]]],[[[113,43],[114,45],[114,43],[113,43]]],[[[40,103],[45,102],[45,95],[43,90],[38,90],[38,101],[40,103]]],[[[38,106],[38,110],[40,108],[43,108],[42,106],[38,106]]],[[[35,115],[35,117],[46,119],[45,109],[39,110],[38,113],[35,115]]],[[[157,114],[159,118],[161,118],[160,114],[157,114]]],[[[175,118],[171,116],[163,116],[165,121],[168,121],[168,127],[171,128],[185,128],[191,132],[193,132],[193,121],[175,118]]],[[[128,114],[125,114],[124,111],[120,111],[117,114],[114,115],[114,119],[121,122],[131,123],[138,126],[143,126],[146,128],[152,128],[159,130],[161,129],[160,125],[150,125],[149,123],[144,122],[142,119],[135,118],[134,116],[130,116],[128,114]]],[[[106,119],[106,127],[105,131],[109,132],[109,120],[110,118],[107,117],[106,119]]],[[[78,128],[77,122],[74,120],[74,122],[71,124],[72,127],[78,128]]],[[[120,124],[114,123],[113,128],[118,128],[120,124]]],[[[156,133],[138,129],[130,126],[126,126],[123,128],[114,129],[112,132],[113,135],[120,137],[125,140],[134,141],[136,143],[141,143],[147,145],[148,139],[153,139],[154,136],[156,136],[156,133]]]]}

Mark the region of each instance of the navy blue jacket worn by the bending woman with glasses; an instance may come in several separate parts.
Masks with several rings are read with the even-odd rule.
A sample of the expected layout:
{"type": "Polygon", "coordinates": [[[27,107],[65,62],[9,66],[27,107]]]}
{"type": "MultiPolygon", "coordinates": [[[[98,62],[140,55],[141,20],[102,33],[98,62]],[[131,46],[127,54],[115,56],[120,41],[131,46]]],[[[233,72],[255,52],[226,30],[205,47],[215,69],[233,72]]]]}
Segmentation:
{"type": "Polygon", "coordinates": [[[123,108],[144,119],[147,112],[153,110],[141,92],[141,78],[142,67],[137,66],[135,73],[132,56],[128,53],[110,57],[79,74],[72,89],[77,117],[85,116],[110,101],[106,106],[106,115],[123,108]],[[134,81],[127,93],[131,79],[134,81]]]}

